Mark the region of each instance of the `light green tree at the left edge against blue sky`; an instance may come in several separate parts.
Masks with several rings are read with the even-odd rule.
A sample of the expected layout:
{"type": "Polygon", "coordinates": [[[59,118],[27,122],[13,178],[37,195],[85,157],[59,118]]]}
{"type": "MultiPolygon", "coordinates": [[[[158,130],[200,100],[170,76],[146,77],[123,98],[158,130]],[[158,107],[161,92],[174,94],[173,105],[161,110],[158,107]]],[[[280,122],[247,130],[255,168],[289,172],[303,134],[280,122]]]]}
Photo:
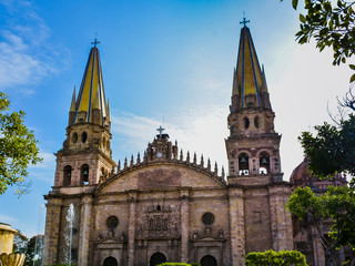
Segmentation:
{"type": "Polygon", "coordinates": [[[24,112],[9,112],[10,101],[0,92],[0,194],[17,185],[17,194],[28,190],[27,167],[41,162],[38,141],[23,122],[24,112]]]}

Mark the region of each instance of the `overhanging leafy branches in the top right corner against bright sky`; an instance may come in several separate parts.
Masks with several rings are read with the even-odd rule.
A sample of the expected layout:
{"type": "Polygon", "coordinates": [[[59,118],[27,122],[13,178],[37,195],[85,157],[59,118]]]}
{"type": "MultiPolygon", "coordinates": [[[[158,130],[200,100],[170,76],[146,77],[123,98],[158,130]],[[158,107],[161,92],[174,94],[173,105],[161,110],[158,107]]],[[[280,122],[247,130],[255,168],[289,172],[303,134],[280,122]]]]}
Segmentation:
{"type": "MultiPolygon", "coordinates": [[[[281,0],[283,1],[283,0],[281,0]]],[[[325,47],[333,49],[333,64],[345,63],[355,52],[355,1],[345,0],[304,0],[304,14],[300,14],[298,43],[307,43],[311,39],[323,51],[325,47]]],[[[294,9],[298,0],[292,0],[294,9]]],[[[349,64],[355,70],[354,64],[349,64]]],[[[351,81],[355,80],[355,74],[351,81]]]]}

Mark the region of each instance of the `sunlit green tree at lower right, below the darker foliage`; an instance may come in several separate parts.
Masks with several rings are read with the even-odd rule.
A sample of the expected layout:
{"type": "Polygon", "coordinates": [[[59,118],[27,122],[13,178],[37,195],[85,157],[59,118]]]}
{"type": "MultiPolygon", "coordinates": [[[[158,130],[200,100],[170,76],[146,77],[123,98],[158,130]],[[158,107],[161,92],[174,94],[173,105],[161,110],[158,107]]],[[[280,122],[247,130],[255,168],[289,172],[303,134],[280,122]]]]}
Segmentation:
{"type": "MultiPolygon", "coordinates": [[[[324,250],[333,265],[335,250],[345,245],[355,247],[355,188],[329,186],[323,195],[315,195],[310,187],[297,188],[286,205],[292,214],[305,219],[318,234],[324,250]],[[328,232],[325,222],[333,222],[328,232]]],[[[354,262],[351,262],[353,265],[354,262]]]]}

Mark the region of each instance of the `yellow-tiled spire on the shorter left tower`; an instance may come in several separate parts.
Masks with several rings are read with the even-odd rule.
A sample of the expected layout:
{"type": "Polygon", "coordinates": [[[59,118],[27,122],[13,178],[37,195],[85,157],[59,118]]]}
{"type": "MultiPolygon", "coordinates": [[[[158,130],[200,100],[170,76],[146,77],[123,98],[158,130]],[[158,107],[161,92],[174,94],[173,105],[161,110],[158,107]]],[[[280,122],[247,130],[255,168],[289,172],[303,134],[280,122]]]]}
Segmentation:
{"type": "MultiPolygon", "coordinates": [[[[95,43],[99,43],[95,41],[95,43]]],[[[104,125],[106,106],[100,53],[94,45],[89,54],[87,68],[78,94],[74,123],[93,123],[93,110],[100,110],[100,125],[104,125]]]]}

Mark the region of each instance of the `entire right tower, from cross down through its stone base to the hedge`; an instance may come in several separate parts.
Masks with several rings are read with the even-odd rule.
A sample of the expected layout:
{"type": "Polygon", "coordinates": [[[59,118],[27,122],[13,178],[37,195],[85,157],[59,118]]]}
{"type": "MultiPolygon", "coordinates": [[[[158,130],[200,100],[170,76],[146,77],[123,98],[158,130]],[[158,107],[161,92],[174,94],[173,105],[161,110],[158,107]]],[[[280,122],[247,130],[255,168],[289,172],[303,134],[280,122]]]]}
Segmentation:
{"type": "Polygon", "coordinates": [[[248,21],[241,22],[232,104],[225,140],[229,158],[231,245],[233,265],[244,265],[250,252],[293,249],[288,182],[280,164],[281,135],[274,130],[264,68],[260,65],[248,21]]]}

